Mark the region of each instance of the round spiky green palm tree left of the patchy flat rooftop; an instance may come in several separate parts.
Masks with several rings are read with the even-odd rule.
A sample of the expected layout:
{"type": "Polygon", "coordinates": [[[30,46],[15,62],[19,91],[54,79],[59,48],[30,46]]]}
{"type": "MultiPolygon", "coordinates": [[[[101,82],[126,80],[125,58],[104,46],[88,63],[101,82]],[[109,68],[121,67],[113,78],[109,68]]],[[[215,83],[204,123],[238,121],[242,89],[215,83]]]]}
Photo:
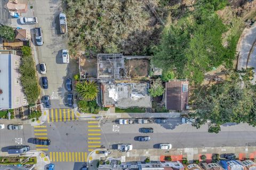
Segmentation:
{"type": "Polygon", "coordinates": [[[95,100],[99,92],[98,85],[95,82],[77,82],[76,91],[82,100],[92,101],[95,100]]]}

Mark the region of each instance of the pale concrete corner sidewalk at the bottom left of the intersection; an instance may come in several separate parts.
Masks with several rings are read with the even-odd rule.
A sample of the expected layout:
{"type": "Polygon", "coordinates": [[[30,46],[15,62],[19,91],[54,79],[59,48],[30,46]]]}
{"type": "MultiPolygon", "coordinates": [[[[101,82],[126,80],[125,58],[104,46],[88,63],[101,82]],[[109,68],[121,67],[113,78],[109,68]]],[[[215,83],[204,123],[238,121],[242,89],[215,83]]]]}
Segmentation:
{"type": "MultiPolygon", "coordinates": [[[[8,154],[7,152],[0,152],[0,156],[17,156],[13,154],[8,154]]],[[[43,152],[43,151],[37,151],[37,150],[30,150],[29,152],[26,152],[25,154],[20,154],[19,156],[25,156],[25,157],[36,157],[37,163],[35,165],[35,169],[37,170],[44,170],[47,164],[50,164],[50,158],[43,152]]]]}

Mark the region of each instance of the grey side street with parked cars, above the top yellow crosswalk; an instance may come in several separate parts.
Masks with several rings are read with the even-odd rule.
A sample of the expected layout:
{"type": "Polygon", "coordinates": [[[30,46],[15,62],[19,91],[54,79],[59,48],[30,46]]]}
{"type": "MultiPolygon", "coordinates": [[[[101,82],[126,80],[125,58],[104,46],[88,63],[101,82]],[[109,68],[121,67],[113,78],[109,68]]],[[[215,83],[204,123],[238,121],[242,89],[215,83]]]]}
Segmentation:
{"type": "MultiPolygon", "coordinates": [[[[66,78],[73,78],[77,71],[77,62],[70,59],[69,64],[62,62],[61,50],[67,48],[67,34],[60,34],[59,14],[62,12],[61,1],[35,0],[35,16],[38,18],[38,27],[43,30],[42,46],[36,47],[37,69],[38,63],[46,63],[46,75],[49,88],[42,89],[42,95],[49,95],[52,108],[66,108],[67,91],[65,89],[66,78]]],[[[39,79],[40,84],[42,79],[39,79]]],[[[74,80],[73,80],[74,82],[74,80]]]]}

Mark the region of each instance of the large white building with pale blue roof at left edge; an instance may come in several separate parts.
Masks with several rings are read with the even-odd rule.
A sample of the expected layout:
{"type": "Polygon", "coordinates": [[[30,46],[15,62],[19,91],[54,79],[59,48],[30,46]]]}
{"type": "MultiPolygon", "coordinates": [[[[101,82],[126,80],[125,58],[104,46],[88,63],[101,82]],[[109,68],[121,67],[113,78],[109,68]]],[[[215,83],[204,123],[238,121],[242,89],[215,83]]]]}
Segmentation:
{"type": "Polygon", "coordinates": [[[0,110],[14,109],[27,105],[20,83],[20,56],[1,51],[0,53],[0,110]]]}

